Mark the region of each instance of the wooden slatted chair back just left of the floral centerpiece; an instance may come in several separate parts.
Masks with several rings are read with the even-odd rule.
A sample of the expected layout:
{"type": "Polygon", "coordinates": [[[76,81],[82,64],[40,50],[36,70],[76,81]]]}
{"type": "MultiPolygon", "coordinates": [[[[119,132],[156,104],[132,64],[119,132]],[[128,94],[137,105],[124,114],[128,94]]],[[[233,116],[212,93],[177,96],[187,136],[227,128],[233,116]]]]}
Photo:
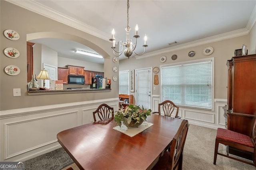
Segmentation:
{"type": "Polygon", "coordinates": [[[101,104],[96,111],[92,112],[93,113],[93,119],[94,122],[96,122],[96,116],[95,114],[98,115],[98,117],[100,118],[100,120],[104,120],[104,119],[108,119],[109,116],[111,115],[112,117],[114,117],[114,109],[113,107],[110,107],[109,105],[103,103],[101,104]]]}

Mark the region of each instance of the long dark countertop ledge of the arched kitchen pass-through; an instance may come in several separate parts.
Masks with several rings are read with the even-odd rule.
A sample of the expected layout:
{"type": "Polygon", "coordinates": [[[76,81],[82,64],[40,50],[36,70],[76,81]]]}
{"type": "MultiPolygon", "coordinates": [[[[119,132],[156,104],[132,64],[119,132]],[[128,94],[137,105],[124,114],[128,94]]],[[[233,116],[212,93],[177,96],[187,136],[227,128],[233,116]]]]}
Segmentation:
{"type": "Polygon", "coordinates": [[[67,94],[67,93],[95,93],[108,92],[111,89],[66,89],[66,90],[28,90],[28,95],[48,95],[48,94],[67,94]]]}

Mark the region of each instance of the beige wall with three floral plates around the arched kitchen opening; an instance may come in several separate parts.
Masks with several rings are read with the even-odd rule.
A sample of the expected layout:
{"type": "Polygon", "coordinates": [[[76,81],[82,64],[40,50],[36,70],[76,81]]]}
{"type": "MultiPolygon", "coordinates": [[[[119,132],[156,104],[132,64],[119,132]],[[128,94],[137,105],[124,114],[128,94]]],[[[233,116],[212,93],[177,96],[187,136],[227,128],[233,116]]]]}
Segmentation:
{"type": "Polygon", "coordinates": [[[111,78],[116,74],[112,71],[114,63],[112,62],[113,52],[110,48],[111,43],[2,0],[0,1],[0,22],[0,30],[2,33],[4,30],[11,29],[20,34],[20,39],[17,41],[8,40],[4,36],[0,37],[2,51],[0,57],[1,111],[118,97],[118,81],[112,81],[111,92],[29,96],[27,94],[26,86],[27,34],[36,32],[61,32],[64,34],[71,34],[70,37],[79,35],[79,38],[84,40],[80,43],[87,45],[104,56],[104,73],[108,78],[111,78]],[[5,57],[3,51],[6,47],[14,47],[18,49],[20,51],[20,57],[16,59],[5,57]],[[4,67],[7,65],[18,66],[21,70],[20,74],[16,76],[7,75],[4,72],[4,67]],[[13,97],[14,88],[21,89],[20,97],[13,97]]]}

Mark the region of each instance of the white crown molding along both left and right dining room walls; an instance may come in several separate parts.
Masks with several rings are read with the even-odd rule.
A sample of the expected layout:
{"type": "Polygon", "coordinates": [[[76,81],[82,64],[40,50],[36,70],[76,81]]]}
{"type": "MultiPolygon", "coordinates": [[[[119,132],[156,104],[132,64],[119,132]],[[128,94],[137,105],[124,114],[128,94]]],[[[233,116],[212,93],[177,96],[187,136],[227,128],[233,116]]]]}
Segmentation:
{"type": "MultiPolygon", "coordinates": [[[[61,22],[70,27],[73,27],[73,28],[76,28],[83,32],[86,32],[88,34],[91,34],[91,35],[101,38],[103,40],[109,41],[109,35],[106,34],[105,32],[102,32],[92,26],[89,26],[87,24],[80,22],[79,20],[70,18],[69,16],[66,16],[64,14],[61,14],[61,13],[53,10],[53,9],[43,6],[42,4],[40,4],[34,0],[5,0],[5,1],[15,4],[17,6],[20,6],[22,8],[25,8],[27,10],[30,10],[32,12],[35,12],[37,14],[40,14],[42,16],[46,16],[47,18],[56,20],[58,22],[61,22]]],[[[180,45],[175,45],[173,47],[168,47],[168,48],[148,52],[148,53],[145,53],[143,56],[135,56],[135,58],[142,59],[142,58],[146,58],[146,57],[152,57],[152,56],[156,56],[156,55],[161,55],[162,53],[168,53],[171,51],[186,49],[186,48],[195,47],[195,46],[203,45],[203,44],[207,44],[207,43],[218,42],[218,41],[226,40],[229,38],[244,36],[244,35],[249,34],[249,32],[252,29],[252,27],[254,26],[255,22],[256,22],[256,6],[254,6],[254,10],[252,11],[250,19],[246,25],[246,28],[243,28],[240,30],[235,30],[232,32],[227,32],[224,34],[219,34],[219,35],[208,37],[208,38],[203,38],[203,39],[188,42],[188,43],[183,43],[180,45]]]]}

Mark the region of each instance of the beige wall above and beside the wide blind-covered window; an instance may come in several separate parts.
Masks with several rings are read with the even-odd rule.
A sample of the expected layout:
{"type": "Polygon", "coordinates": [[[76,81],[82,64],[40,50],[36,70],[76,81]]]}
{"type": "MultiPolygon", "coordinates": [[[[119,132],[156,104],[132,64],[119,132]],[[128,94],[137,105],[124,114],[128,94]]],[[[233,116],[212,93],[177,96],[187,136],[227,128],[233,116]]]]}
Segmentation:
{"type": "MultiPolygon", "coordinates": [[[[227,99],[227,83],[228,83],[228,71],[226,67],[226,61],[234,56],[234,50],[242,47],[242,44],[249,44],[248,36],[240,36],[237,38],[231,38],[228,40],[222,40],[219,42],[208,43],[204,45],[199,45],[196,47],[182,49],[177,51],[172,51],[169,53],[163,53],[162,55],[166,56],[166,62],[161,63],[160,57],[162,55],[156,55],[153,57],[147,57],[137,59],[132,57],[131,59],[120,60],[120,71],[122,70],[131,70],[131,69],[139,69],[144,67],[160,67],[160,65],[168,64],[168,63],[177,63],[182,61],[190,61],[196,59],[204,59],[214,57],[214,98],[217,99],[227,99]],[[202,54],[202,51],[205,47],[212,46],[214,48],[214,52],[211,55],[205,56],[202,54]],[[196,54],[194,57],[189,57],[188,52],[195,51],[196,54]],[[176,54],[178,58],[176,60],[172,60],[171,56],[176,54]]],[[[150,44],[148,46],[150,48],[150,44]]],[[[152,80],[154,80],[154,73],[152,74],[152,80]]],[[[160,72],[158,73],[158,77],[160,78],[160,72]]],[[[160,80],[159,80],[160,81],[160,80]]],[[[154,82],[154,81],[153,81],[154,82]]],[[[156,90],[152,91],[152,95],[160,94],[160,85],[152,84],[152,87],[156,87],[156,90]]],[[[153,88],[152,88],[153,89],[153,88]]],[[[132,93],[135,95],[134,93],[132,93]]]]}

